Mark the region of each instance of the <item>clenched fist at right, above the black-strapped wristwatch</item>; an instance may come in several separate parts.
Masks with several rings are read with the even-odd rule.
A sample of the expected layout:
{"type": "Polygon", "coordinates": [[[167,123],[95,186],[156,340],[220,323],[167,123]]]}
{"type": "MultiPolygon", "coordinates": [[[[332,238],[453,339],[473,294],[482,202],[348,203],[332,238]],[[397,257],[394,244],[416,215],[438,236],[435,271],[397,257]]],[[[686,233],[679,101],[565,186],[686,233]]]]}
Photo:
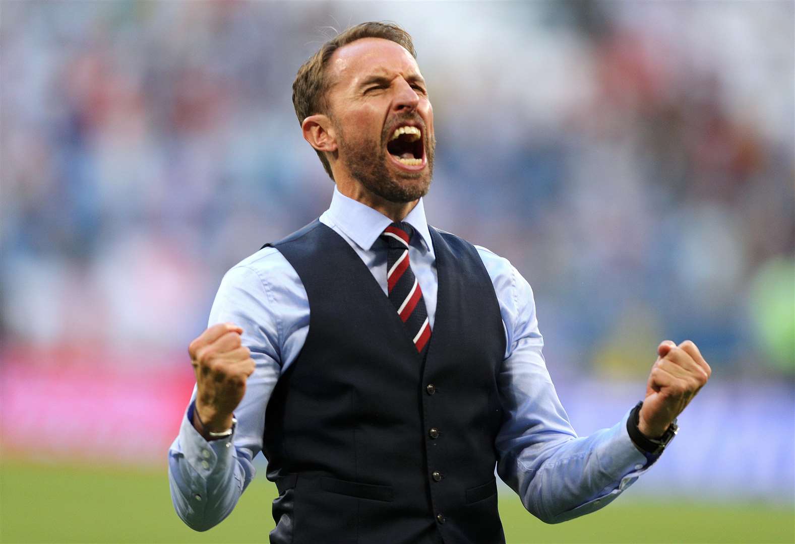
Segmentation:
{"type": "Polygon", "coordinates": [[[638,421],[638,430],[648,438],[661,437],[712,375],[692,341],[676,345],[665,340],[657,346],[657,355],[638,421]]]}

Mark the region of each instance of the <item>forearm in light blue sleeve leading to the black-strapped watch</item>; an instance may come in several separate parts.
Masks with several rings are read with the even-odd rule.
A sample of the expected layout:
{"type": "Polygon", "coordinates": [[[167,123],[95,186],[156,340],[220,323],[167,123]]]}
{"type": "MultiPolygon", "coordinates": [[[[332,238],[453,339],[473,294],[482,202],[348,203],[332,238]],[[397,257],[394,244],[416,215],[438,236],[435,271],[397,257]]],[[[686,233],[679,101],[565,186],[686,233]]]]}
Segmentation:
{"type": "MultiPolygon", "coordinates": [[[[627,412],[628,414],[629,412],[627,412]]],[[[553,438],[507,453],[498,472],[525,508],[560,523],[611,503],[648,468],[626,432],[626,415],[610,429],[583,438],[553,438]]]]}

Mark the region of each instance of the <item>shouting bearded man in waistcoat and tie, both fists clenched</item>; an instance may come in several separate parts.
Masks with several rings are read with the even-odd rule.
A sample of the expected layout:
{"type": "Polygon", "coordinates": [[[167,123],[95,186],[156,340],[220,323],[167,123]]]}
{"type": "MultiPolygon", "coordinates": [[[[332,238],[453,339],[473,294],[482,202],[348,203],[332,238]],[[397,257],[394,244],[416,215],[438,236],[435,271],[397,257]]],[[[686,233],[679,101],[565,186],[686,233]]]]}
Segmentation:
{"type": "Polygon", "coordinates": [[[708,380],[696,345],[663,341],[643,402],[576,438],[529,284],[425,221],[435,141],[415,56],[396,25],[365,23],[298,71],[293,103],[335,192],[224,276],[190,345],[169,477],[196,530],[229,514],[262,449],[271,542],[504,542],[495,465],[545,522],[595,511],[656,461],[708,380]]]}

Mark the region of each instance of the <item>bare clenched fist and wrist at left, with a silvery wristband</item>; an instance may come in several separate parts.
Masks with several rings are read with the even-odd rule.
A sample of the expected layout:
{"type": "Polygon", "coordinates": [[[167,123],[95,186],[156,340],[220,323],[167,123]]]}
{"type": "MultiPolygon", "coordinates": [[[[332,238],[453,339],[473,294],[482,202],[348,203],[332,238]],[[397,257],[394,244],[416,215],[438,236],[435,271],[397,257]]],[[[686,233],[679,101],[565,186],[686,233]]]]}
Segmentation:
{"type": "Polygon", "coordinates": [[[232,426],[232,411],[246,392],[246,379],[254,372],[251,352],[240,342],[242,332],[234,323],[219,323],[188,346],[196,372],[193,426],[204,438],[208,438],[207,432],[232,426]]]}

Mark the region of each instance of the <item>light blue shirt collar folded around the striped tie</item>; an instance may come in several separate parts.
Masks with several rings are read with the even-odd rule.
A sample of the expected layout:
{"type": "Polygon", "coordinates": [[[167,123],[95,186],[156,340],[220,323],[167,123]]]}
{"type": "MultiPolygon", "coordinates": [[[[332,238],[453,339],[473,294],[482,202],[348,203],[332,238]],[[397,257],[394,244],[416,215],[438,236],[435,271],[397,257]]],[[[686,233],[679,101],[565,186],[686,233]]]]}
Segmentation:
{"type": "MultiPolygon", "coordinates": [[[[366,250],[373,247],[384,229],[392,224],[392,220],[386,215],[354,199],[349,199],[340,193],[337,187],[334,187],[334,196],[332,196],[332,205],[328,207],[328,214],[339,230],[355,241],[360,248],[366,250]]],[[[433,255],[431,233],[425,220],[425,206],[422,199],[405,216],[403,222],[413,226],[420,235],[422,245],[433,255]]]]}

